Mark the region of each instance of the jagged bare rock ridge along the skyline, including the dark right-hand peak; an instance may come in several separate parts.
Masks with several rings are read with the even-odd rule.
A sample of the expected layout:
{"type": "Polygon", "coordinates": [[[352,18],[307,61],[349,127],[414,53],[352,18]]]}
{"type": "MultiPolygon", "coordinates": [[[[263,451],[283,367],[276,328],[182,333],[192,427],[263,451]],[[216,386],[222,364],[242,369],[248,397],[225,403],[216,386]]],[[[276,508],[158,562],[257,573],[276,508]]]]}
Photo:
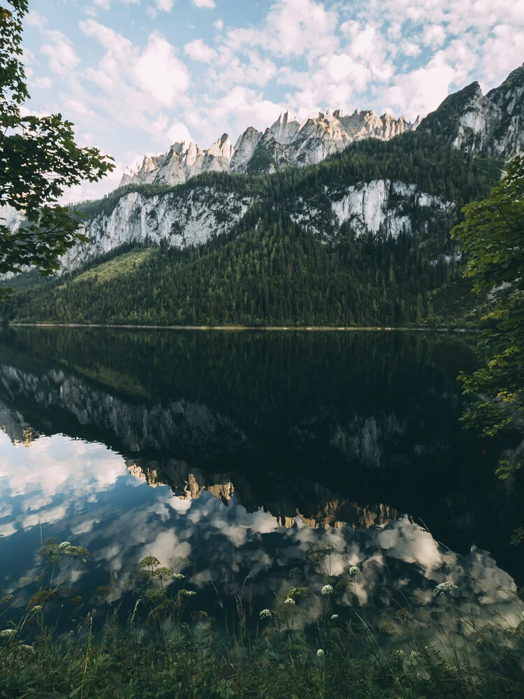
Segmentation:
{"type": "Polygon", "coordinates": [[[340,108],[312,113],[300,123],[292,110],[286,110],[264,131],[248,127],[234,146],[228,134],[222,134],[207,150],[181,142],[167,154],[147,154],[126,168],[120,184],[177,185],[208,171],[270,173],[289,165],[319,163],[356,140],[389,140],[417,128],[441,134],[453,147],[496,157],[524,150],[524,65],[486,95],[478,82],[472,82],[413,124],[388,113],[379,116],[373,110],[356,109],[349,114],[340,108]]]}

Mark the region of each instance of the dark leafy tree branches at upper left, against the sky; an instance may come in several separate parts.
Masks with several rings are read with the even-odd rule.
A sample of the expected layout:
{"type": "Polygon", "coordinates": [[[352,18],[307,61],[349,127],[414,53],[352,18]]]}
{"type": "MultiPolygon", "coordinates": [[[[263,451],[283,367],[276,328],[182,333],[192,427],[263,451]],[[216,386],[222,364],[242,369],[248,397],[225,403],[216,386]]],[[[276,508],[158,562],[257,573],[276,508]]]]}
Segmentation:
{"type": "MultiPolygon", "coordinates": [[[[97,148],[80,148],[73,124],[60,114],[24,116],[29,99],[22,55],[22,21],[27,0],[0,5],[0,206],[23,212],[24,224],[10,227],[0,217],[0,274],[24,265],[51,274],[66,250],[87,238],[82,217],[57,202],[82,180],[96,182],[115,168],[97,148]]],[[[7,290],[0,287],[0,298],[7,290]]]]}

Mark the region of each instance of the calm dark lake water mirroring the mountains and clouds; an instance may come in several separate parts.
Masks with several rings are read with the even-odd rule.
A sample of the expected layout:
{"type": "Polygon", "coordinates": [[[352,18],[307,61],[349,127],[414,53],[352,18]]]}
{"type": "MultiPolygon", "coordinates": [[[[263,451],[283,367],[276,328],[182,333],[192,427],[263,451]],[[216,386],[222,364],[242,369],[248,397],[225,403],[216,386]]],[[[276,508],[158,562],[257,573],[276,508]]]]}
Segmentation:
{"type": "MultiPolygon", "coordinates": [[[[92,557],[92,591],[154,555],[189,561],[191,608],[255,610],[358,565],[379,613],[451,581],[504,603],[522,493],[502,442],[458,418],[473,341],[393,332],[0,331],[0,587],[30,596],[41,537],[92,557]],[[27,592],[25,592],[27,588],[27,592]]],[[[181,569],[181,568],[179,568],[181,569]]]]}

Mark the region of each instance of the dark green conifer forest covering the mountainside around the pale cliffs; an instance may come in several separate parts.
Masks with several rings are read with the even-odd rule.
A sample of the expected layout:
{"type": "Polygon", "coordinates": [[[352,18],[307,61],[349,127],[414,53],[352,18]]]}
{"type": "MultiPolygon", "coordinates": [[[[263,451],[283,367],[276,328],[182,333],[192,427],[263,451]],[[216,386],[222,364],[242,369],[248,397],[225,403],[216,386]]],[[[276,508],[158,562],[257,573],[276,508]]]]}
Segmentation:
{"type": "Polygon", "coordinates": [[[317,166],[273,175],[207,173],[178,187],[129,185],[78,210],[90,219],[108,217],[129,191],[180,198],[196,187],[212,188],[215,196],[235,192],[252,206],[228,233],[201,245],[131,240],[89,261],[88,271],[21,289],[3,318],[169,325],[449,322],[473,302],[449,230],[464,203],[493,187],[501,167],[414,132],[388,142],[361,141],[317,166]],[[349,188],[377,180],[389,187],[388,206],[397,219],[409,224],[395,235],[334,213],[349,188]],[[393,187],[399,182],[407,185],[402,197],[393,187]],[[417,193],[433,196],[438,206],[421,206],[417,193]]]}

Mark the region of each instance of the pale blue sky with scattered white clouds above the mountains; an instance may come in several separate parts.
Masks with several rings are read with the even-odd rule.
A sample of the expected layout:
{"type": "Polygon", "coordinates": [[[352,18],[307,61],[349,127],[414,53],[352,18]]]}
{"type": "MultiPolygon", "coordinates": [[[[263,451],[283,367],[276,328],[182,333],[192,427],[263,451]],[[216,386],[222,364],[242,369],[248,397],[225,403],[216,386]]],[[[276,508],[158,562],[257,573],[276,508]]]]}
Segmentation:
{"type": "Polygon", "coordinates": [[[518,0],[29,0],[25,113],[61,113],[117,163],[68,201],[115,189],[146,152],[209,147],[279,113],[374,109],[413,121],[524,62],[518,0]]]}

